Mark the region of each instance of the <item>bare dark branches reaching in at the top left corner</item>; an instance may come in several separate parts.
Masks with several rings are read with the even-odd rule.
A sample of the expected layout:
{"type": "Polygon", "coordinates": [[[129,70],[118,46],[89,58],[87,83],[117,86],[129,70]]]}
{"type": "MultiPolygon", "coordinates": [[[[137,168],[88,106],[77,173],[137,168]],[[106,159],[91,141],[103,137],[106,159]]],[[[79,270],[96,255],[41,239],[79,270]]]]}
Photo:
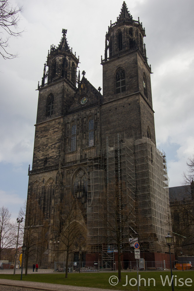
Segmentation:
{"type": "Polygon", "coordinates": [[[8,52],[8,40],[11,36],[21,36],[23,31],[18,31],[17,26],[20,20],[19,13],[22,8],[13,7],[8,0],[0,1],[0,54],[4,59],[15,58],[17,54],[8,52]]]}

